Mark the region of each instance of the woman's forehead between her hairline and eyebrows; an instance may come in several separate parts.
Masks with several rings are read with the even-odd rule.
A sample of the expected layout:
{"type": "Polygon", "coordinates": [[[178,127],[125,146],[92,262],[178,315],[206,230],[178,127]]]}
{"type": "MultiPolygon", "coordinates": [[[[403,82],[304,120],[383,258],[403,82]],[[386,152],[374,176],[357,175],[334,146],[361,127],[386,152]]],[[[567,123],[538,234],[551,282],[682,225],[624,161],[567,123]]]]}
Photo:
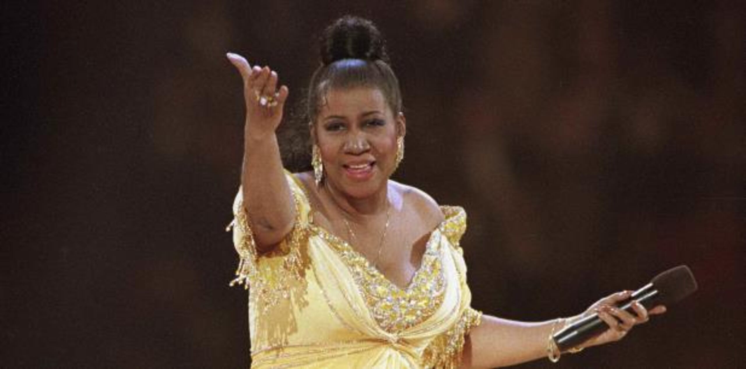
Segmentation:
{"type": "Polygon", "coordinates": [[[330,89],[322,104],[321,116],[358,116],[361,113],[377,111],[388,113],[383,92],[374,87],[353,87],[330,89]]]}

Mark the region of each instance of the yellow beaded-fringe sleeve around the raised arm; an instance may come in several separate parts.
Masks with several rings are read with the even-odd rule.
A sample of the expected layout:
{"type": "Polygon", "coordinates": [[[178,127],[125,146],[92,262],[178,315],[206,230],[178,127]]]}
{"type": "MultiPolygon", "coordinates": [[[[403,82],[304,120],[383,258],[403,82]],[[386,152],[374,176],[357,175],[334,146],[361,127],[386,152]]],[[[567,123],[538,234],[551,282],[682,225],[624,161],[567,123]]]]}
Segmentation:
{"type": "Polygon", "coordinates": [[[301,255],[308,238],[310,205],[301,183],[289,171],[285,172],[285,177],[295,204],[295,221],[278,247],[267,253],[258,252],[240,188],[233,201],[233,221],[227,229],[233,229],[233,246],[239,255],[236,278],[231,286],[242,284],[251,288],[252,294],[263,300],[265,306],[273,306],[280,298],[286,298],[289,280],[301,278],[304,268],[301,255]]]}

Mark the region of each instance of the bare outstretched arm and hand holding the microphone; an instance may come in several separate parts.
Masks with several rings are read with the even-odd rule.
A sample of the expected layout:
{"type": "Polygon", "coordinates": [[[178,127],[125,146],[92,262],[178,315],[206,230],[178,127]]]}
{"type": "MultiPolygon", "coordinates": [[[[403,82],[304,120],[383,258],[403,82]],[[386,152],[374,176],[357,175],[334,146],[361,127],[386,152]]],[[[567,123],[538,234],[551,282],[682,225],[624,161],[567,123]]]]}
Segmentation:
{"type": "Polygon", "coordinates": [[[606,344],[624,338],[632,327],[648,321],[649,315],[665,312],[665,306],[656,306],[650,312],[640,303],[633,303],[636,315],[617,309],[614,306],[630,297],[631,291],[618,292],[594,303],[583,314],[566,319],[555,319],[539,323],[510,321],[484,315],[482,323],[471,329],[463,353],[463,368],[497,368],[507,365],[548,358],[548,350],[557,352],[550,346],[549,337],[559,332],[565,324],[572,324],[594,313],[598,314],[609,329],[601,335],[589,339],[574,350],[606,344]]]}

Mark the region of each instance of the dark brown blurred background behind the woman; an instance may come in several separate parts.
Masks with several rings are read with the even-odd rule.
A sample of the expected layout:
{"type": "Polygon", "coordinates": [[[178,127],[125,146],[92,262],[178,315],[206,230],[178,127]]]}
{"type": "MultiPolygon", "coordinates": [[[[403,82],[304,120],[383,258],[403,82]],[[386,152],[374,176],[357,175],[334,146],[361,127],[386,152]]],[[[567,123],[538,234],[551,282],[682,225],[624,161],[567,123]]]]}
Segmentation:
{"type": "Polygon", "coordinates": [[[574,315],[687,264],[696,294],[551,368],[745,365],[741,1],[1,7],[4,368],[248,365],[225,52],[277,69],[294,104],[345,13],[389,40],[408,118],[395,177],[468,212],[474,307],[574,315]]]}

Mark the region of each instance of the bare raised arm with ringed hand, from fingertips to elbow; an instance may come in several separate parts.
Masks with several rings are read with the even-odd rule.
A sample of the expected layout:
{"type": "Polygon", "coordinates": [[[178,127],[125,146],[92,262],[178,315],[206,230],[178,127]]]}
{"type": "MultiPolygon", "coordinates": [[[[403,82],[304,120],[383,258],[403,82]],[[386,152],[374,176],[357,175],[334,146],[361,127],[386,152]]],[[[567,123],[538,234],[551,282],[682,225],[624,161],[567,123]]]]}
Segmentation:
{"type": "Polygon", "coordinates": [[[241,188],[243,206],[260,251],[277,245],[292,230],[295,217],[275,130],[283,116],[286,86],[277,89],[278,74],[265,66],[248,65],[238,54],[228,55],[243,79],[246,104],[241,188]]]}

